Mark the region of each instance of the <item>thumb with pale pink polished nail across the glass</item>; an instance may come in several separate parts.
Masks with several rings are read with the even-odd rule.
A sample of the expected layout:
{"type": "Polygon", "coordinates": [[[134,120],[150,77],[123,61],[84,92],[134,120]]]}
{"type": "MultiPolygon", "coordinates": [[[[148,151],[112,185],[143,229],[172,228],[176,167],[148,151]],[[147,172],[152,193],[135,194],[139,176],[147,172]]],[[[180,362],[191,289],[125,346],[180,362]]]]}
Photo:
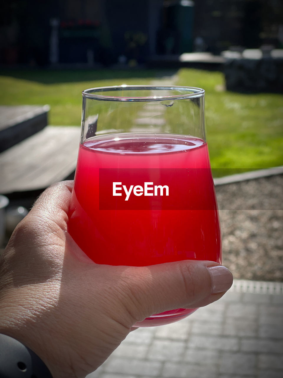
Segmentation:
{"type": "Polygon", "coordinates": [[[220,299],[233,282],[232,273],[213,261],[184,260],[130,269],[128,310],[137,321],[176,308],[206,306],[220,299]]]}

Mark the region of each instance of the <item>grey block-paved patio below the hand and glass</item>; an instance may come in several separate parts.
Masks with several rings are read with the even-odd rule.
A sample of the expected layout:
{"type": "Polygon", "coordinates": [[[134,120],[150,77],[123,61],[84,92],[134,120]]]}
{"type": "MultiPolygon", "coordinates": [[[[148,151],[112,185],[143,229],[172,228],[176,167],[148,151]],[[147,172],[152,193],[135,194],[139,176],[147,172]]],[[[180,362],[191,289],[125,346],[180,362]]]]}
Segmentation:
{"type": "Polygon", "coordinates": [[[234,280],[188,318],[131,332],[88,378],[282,378],[283,284],[234,280]]]}

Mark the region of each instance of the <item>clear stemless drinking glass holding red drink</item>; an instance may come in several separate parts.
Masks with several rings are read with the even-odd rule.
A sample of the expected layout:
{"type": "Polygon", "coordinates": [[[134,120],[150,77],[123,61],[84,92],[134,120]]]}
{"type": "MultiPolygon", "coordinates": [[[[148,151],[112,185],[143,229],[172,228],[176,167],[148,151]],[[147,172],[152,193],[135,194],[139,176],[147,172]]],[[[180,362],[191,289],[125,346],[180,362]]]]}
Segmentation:
{"type": "MultiPolygon", "coordinates": [[[[121,85],[83,91],[69,232],[98,264],[221,263],[204,122],[205,91],[121,85]]],[[[135,327],[196,309],[153,314],[135,327]]]]}

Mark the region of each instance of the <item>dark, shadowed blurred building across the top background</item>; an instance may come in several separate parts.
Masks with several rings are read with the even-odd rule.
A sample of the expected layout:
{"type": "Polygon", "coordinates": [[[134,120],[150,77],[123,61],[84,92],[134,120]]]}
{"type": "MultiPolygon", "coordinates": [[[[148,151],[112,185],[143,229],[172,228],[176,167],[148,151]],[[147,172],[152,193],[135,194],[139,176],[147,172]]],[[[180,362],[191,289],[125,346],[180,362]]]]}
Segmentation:
{"type": "Polygon", "coordinates": [[[2,65],[144,63],[283,46],[281,0],[11,0],[1,8],[2,65]]]}

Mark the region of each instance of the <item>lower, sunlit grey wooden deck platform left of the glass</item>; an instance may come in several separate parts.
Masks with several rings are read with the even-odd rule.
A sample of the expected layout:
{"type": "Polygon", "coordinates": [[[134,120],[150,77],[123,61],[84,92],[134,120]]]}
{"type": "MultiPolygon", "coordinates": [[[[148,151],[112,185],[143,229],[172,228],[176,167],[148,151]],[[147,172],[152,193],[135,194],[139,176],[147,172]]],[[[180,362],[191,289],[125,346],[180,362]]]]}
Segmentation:
{"type": "Polygon", "coordinates": [[[79,127],[46,126],[0,153],[0,193],[36,191],[75,170],[79,127]]]}

